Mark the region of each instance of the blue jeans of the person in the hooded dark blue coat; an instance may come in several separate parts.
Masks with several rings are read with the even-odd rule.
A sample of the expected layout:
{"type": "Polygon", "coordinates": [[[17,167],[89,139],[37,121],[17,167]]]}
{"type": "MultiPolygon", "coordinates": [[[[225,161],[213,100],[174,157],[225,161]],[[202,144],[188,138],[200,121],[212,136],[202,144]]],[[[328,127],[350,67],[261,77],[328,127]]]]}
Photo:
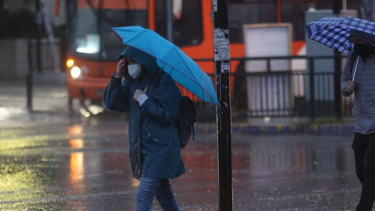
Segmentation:
{"type": "Polygon", "coordinates": [[[163,211],[180,211],[168,179],[141,178],[135,211],[151,211],[154,196],[163,211]]]}

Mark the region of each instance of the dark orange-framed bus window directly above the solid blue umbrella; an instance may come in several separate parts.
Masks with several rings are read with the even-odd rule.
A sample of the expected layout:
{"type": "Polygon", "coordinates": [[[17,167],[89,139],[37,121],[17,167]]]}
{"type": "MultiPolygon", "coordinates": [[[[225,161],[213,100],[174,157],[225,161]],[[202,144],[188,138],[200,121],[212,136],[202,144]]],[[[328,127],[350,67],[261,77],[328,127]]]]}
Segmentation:
{"type": "MultiPolygon", "coordinates": [[[[174,0],[181,3],[180,13],[174,9],[173,42],[178,47],[198,45],[203,41],[201,0],[174,0]]],[[[174,5],[176,7],[176,5],[174,5]]],[[[166,38],[166,0],[155,0],[155,31],[166,38]]]]}

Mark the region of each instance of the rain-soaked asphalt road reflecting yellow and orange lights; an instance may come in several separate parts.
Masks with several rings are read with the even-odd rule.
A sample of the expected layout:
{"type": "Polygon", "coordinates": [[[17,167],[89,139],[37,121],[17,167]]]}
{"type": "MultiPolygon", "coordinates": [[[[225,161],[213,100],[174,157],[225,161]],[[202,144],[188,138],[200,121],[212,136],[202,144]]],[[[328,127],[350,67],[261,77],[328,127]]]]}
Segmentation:
{"type": "MultiPolygon", "coordinates": [[[[134,210],[139,182],[121,117],[39,118],[0,124],[0,210],[134,210]]],[[[234,210],[354,210],[351,140],[233,135],[234,210]]],[[[183,149],[187,173],[171,182],[181,210],[218,210],[216,157],[212,135],[183,149]]]]}

